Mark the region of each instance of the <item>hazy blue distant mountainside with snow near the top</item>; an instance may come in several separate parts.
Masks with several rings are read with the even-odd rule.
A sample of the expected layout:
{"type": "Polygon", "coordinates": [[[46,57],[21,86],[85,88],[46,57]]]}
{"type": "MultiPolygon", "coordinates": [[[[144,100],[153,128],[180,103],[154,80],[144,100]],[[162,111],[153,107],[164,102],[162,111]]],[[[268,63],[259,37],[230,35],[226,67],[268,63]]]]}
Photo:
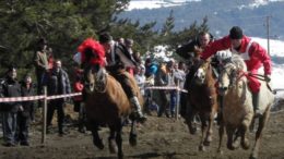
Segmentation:
{"type": "Polygon", "coordinates": [[[150,9],[132,5],[132,10],[121,13],[119,17],[140,20],[141,24],[156,21],[155,29],[163,26],[173,10],[175,30],[180,30],[194,21],[201,23],[202,19],[208,16],[210,29],[216,37],[226,35],[232,26],[238,25],[249,36],[265,38],[267,16],[270,16],[271,38],[284,39],[283,0],[135,0],[131,2],[150,9]],[[154,4],[155,8],[151,8],[154,4]]]}

